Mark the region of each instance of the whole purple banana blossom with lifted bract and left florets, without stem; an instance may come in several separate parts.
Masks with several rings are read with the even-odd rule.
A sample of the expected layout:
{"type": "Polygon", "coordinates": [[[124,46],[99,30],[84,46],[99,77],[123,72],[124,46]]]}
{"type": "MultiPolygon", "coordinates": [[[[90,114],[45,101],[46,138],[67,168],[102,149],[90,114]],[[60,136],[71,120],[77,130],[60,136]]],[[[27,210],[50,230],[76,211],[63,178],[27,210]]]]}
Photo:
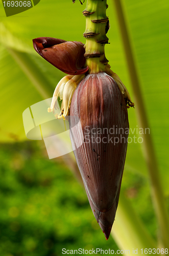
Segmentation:
{"type": "MultiPolygon", "coordinates": [[[[88,74],[81,42],[40,37],[34,39],[33,44],[43,58],[69,74],[54,92],[57,98],[66,100],[59,118],[70,111],[70,116],[80,120],[76,125],[76,118],[70,118],[74,155],[93,214],[108,239],[115,220],[127,151],[128,133],[124,131],[129,129],[129,123],[124,96],[108,74],[88,74]],[[78,147],[81,140],[83,143],[78,147]]],[[[54,107],[55,101],[49,112],[54,107]]]]}

